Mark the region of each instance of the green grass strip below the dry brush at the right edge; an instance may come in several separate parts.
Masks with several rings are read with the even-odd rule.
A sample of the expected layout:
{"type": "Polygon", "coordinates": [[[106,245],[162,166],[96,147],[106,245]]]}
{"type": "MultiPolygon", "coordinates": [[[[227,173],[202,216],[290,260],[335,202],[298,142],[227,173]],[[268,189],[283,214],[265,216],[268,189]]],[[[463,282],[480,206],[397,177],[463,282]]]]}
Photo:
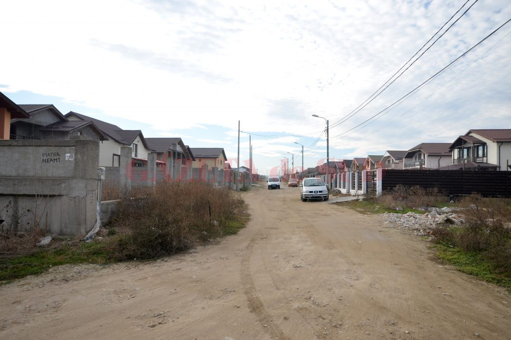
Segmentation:
{"type": "Polygon", "coordinates": [[[443,264],[448,264],[460,272],[474,275],[486,282],[495,283],[511,290],[511,277],[497,274],[491,261],[478,252],[464,252],[457,247],[438,243],[431,246],[436,250],[436,258],[443,264]]]}

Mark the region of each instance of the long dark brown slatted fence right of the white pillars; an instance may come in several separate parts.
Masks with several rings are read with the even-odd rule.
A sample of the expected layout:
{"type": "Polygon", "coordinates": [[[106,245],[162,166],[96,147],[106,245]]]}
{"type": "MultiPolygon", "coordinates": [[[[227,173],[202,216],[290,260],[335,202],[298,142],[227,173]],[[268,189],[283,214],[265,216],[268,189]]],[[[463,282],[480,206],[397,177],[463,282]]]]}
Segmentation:
{"type": "Polygon", "coordinates": [[[384,170],[382,190],[398,185],[438,188],[446,195],[472,194],[511,197],[511,172],[463,170],[384,170]]]}

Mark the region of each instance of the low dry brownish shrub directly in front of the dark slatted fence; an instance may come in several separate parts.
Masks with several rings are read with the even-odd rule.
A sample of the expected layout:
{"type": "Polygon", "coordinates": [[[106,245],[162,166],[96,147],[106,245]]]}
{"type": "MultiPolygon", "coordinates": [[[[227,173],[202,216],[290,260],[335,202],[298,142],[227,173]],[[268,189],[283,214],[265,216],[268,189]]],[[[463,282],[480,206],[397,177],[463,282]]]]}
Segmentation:
{"type": "Polygon", "coordinates": [[[447,202],[448,198],[442,195],[437,188],[424,189],[418,186],[405,187],[398,185],[392,190],[385,191],[377,199],[380,205],[395,209],[419,208],[424,206],[435,206],[440,202],[447,202]]]}

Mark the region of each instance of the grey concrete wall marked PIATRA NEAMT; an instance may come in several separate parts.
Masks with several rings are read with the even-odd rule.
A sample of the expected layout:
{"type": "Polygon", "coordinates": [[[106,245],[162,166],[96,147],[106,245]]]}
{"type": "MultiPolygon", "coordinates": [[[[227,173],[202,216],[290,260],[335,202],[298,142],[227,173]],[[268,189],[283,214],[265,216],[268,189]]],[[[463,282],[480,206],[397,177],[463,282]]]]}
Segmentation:
{"type": "Polygon", "coordinates": [[[91,140],[0,141],[5,226],[87,233],[96,223],[98,154],[99,143],[91,140]]]}

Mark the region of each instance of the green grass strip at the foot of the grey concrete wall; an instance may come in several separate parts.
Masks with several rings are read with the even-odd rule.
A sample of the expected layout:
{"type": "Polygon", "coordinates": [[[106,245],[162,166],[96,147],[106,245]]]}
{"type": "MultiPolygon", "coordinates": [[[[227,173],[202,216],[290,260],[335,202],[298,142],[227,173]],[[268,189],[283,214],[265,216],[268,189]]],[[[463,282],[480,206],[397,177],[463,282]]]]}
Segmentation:
{"type": "Polygon", "coordinates": [[[41,249],[15,257],[0,258],[0,283],[7,283],[27,275],[40,274],[63,264],[104,264],[112,261],[105,242],[62,245],[56,249],[41,249]]]}

